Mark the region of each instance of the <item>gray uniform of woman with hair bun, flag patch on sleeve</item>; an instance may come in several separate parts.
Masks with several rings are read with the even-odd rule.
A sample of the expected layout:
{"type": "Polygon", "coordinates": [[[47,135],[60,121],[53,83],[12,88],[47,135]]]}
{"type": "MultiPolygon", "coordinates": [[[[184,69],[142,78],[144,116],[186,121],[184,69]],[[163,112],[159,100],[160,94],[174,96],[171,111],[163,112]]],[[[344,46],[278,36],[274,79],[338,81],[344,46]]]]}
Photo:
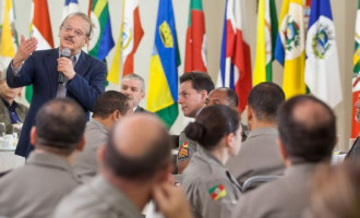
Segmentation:
{"type": "Polygon", "coordinates": [[[201,146],[183,172],[182,185],[194,217],[230,217],[241,192],[224,165],[201,146]]]}

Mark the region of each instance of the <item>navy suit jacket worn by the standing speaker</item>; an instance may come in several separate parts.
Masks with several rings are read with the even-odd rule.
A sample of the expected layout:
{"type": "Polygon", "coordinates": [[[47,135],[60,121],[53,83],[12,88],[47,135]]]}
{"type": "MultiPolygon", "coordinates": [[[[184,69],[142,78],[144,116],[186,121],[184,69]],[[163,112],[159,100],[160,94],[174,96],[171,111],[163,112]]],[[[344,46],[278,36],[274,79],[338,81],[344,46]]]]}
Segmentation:
{"type": "MultiPolygon", "coordinates": [[[[29,131],[35,124],[36,112],[57,96],[58,58],[58,49],[39,50],[27,58],[17,76],[14,75],[11,65],[8,68],[7,81],[10,87],[33,84],[33,99],[17,143],[16,155],[28,156],[33,149],[29,144],[29,131]]],[[[67,84],[67,97],[77,101],[88,117],[95,100],[105,90],[106,64],[81,51],[74,70],[75,76],[67,84]]]]}

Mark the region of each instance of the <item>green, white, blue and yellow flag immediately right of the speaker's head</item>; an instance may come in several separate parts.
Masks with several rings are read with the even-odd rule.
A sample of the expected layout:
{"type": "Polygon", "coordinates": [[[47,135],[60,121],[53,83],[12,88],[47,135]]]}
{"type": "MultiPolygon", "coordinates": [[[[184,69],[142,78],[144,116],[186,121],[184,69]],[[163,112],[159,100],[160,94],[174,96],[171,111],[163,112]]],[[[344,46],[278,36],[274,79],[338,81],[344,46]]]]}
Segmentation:
{"type": "Polygon", "coordinates": [[[91,0],[89,9],[89,17],[94,26],[88,53],[104,61],[115,46],[108,0],[91,0]]]}

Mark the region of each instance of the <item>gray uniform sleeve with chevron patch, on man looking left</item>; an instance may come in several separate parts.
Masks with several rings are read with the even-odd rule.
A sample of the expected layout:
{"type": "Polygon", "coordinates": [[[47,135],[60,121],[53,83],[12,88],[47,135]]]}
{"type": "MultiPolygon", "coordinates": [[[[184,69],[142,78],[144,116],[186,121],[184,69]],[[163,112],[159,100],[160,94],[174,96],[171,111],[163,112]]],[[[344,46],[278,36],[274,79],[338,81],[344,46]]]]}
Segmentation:
{"type": "Polygon", "coordinates": [[[179,135],[179,152],[177,157],[177,164],[190,160],[197,149],[196,146],[196,142],[190,140],[185,135],[185,132],[182,131],[179,135]]]}

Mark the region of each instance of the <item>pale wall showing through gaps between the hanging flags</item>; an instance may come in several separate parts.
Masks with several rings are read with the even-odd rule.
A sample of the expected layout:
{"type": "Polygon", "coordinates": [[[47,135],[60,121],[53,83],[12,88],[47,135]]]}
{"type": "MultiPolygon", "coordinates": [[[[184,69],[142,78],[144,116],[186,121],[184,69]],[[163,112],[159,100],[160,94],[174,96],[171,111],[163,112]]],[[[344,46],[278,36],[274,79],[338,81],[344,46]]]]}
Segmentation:
{"type": "MultiPolygon", "coordinates": [[[[1,1],[1,0],[0,0],[1,1]]],[[[82,12],[87,12],[88,0],[79,0],[82,12]]],[[[109,0],[112,35],[117,41],[120,31],[121,0],[109,0]]],[[[183,72],[184,61],[184,39],[188,23],[190,0],[172,0],[176,24],[178,32],[178,40],[180,47],[180,55],[182,64],[179,68],[179,75],[183,72]]],[[[250,46],[252,51],[252,63],[255,60],[255,45],[256,45],[256,0],[245,0],[248,3],[248,31],[250,32],[250,46]]],[[[281,0],[276,0],[278,14],[281,10],[281,0]]],[[[337,116],[338,135],[340,136],[340,145],[343,149],[348,146],[350,135],[350,113],[351,113],[351,72],[352,72],[352,49],[353,49],[353,29],[355,17],[357,11],[357,0],[331,0],[333,7],[333,16],[335,21],[337,46],[340,62],[340,76],[343,83],[344,101],[335,108],[337,116]]],[[[63,0],[48,0],[50,19],[53,32],[55,45],[59,45],[58,28],[61,23],[63,0]]],[[[1,5],[1,4],[0,4],[1,5]]],[[[135,73],[141,74],[147,81],[151,51],[154,44],[154,31],[157,15],[158,0],[140,0],[140,14],[144,28],[144,37],[140,44],[137,53],[135,56],[135,73]]],[[[215,81],[217,77],[219,65],[219,51],[221,41],[221,29],[225,0],[203,0],[203,8],[205,12],[206,34],[207,34],[207,61],[209,75],[215,81]]],[[[20,34],[28,36],[28,25],[31,20],[31,0],[15,0],[16,10],[16,26],[20,34]]],[[[108,58],[108,64],[111,63],[113,50],[108,58]]],[[[283,69],[275,63],[274,82],[281,85],[283,69]]],[[[118,89],[117,86],[110,86],[111,89],[118,89]]],[[[146,99],[141,104],[146,105],[146,99]]],[[[183,116],[180,114],[171,132],[179,133],[184,123],[183,116]]]]}

